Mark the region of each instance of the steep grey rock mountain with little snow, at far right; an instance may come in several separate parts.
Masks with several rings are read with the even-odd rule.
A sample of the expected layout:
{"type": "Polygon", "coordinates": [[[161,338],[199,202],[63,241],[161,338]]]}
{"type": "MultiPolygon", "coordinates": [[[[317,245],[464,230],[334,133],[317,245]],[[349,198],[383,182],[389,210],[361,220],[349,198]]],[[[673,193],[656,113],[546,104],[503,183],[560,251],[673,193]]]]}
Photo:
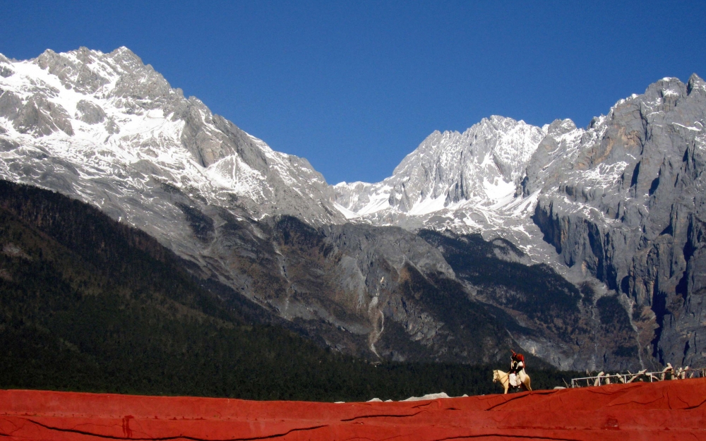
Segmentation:
{"type": "Polygon", "coordinates": [[[645,360],[706,361],[705,121],[703,80],[664,78],[585,131],[556,123],[523,183],[563,262],[628,299],[645,360]]]}

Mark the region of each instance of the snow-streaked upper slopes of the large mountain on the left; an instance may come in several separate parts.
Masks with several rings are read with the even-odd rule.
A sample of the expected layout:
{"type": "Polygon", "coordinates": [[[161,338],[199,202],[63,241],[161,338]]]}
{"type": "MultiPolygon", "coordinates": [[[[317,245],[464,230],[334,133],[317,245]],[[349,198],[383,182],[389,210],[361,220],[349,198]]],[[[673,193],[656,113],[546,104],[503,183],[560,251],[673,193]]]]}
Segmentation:
{"type": "Polygon", "coordinates": [[[0,175],[101,207],[162,241],[181,216],[155,191],[183,191],[246,215],[340,222],[323,176],[173,89],[129,49],[0,55],[0,175]],[[21,164],[21,165],[20,165],[21,164]],[[234,203],[237,201],[237,203],[234,203]]]}

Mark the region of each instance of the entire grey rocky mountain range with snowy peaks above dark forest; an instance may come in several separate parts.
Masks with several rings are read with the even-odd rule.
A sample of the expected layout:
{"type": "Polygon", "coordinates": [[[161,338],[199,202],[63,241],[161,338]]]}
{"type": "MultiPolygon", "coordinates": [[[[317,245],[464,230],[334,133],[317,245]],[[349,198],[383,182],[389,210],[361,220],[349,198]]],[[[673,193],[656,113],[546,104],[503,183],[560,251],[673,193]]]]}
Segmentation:
{"type": "Polygon", "coordinates": [[[0,56],[0,176],[143,229],[220,296],[345,353],[699,364],[705,99],[693,75],[585,129],[492,116],[381,183],[328,186],[126,48],[0,56]]]}

